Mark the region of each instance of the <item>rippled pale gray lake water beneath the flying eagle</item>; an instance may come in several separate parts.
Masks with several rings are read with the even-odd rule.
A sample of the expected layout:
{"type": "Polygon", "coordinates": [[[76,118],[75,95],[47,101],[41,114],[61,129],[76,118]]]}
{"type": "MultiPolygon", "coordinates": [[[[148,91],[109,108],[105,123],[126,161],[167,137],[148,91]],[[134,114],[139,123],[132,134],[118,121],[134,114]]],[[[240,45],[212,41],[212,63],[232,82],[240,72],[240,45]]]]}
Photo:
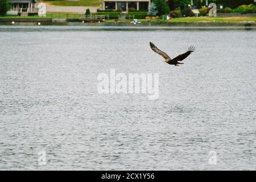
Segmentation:
{"type": "Polygon", "coordinates": [[[241,27],[0,26],[0,169],[255,170],[255,40],[241,27]],[[150,41],[197,49],[174,67],[150,41]],[[158,100],[99,94],[112,68],[159,73],[158,100]]]}

